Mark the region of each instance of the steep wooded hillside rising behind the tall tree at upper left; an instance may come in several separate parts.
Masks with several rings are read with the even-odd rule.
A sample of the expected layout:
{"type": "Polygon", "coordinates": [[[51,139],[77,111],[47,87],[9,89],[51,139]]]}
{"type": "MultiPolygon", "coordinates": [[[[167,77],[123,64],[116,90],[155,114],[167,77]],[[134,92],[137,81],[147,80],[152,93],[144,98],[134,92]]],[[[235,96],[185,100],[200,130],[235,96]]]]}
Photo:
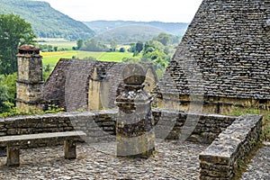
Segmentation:
{"type": "Polygon", "coordinates": [[[32,24],[40,38],[67,38],[76,40],[94,36],[84,23],[75,21],[50,7],[48,3],[31,0],[0,0],[0,14],[19,14],[32,24]]]}

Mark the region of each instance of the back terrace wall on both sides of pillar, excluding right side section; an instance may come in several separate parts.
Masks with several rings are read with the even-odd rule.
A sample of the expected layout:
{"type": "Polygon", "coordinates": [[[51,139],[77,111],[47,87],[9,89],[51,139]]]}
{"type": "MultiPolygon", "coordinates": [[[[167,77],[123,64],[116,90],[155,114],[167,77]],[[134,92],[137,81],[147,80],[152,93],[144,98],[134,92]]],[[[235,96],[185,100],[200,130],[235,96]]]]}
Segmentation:
{"type": "MultiPolygon", "coordinates": [[[[117,112],[117,110],[65,112],[0,119],[0,136],[84,130],[88,136],[87,140],[91,142],[115,140],[117,112]]],[[[202,143],[211,143],[222,130],[226,130],[237,119],[233,116],[162,109],[154,109],[152,114],[157,139],[179,139],[180,131],[183,129],[184,134],[184,130],[188,129],[192,130],[192,134],[187,134],[188,140],[202,143]]]]}

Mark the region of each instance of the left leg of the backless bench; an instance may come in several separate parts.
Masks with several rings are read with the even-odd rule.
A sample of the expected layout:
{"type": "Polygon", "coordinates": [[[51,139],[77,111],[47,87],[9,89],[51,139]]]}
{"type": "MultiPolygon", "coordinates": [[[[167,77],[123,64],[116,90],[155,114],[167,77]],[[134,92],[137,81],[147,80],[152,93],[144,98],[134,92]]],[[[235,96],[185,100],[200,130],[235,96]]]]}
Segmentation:
{"type": "Polygon", "coordinates": [[[7,146],[6,166],[20,166],[20,148],[19,147],[7,146]]]}

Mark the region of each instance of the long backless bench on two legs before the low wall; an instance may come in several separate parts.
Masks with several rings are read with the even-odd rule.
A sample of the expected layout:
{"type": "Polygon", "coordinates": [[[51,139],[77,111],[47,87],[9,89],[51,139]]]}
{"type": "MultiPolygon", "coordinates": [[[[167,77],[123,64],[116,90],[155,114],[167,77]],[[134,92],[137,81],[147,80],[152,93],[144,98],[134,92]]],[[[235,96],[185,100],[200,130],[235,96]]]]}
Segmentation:
{"type": "Polygon", "coordinates": [[[76,158],[76,141],[85,138],[83,131],[66,131],[39,134],[26,134],[0,137],[0,146],[6,147],[6,165],[20,166],[20,148],[30,144],[51,144],[51,142],[64,141],[65,158],[76,158]]]}

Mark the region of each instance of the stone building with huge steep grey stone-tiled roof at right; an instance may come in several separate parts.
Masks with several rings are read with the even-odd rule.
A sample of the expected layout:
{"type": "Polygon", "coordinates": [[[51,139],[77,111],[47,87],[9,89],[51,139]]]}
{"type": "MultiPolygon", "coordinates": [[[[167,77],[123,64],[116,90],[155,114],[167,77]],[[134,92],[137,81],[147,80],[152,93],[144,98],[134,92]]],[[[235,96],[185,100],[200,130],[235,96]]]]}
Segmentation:
{"type": "Polygon", "coordinates": [[[269,0],[203,0],[155,89],[158,106],[269,110],[269,21],[269,0]]]}

